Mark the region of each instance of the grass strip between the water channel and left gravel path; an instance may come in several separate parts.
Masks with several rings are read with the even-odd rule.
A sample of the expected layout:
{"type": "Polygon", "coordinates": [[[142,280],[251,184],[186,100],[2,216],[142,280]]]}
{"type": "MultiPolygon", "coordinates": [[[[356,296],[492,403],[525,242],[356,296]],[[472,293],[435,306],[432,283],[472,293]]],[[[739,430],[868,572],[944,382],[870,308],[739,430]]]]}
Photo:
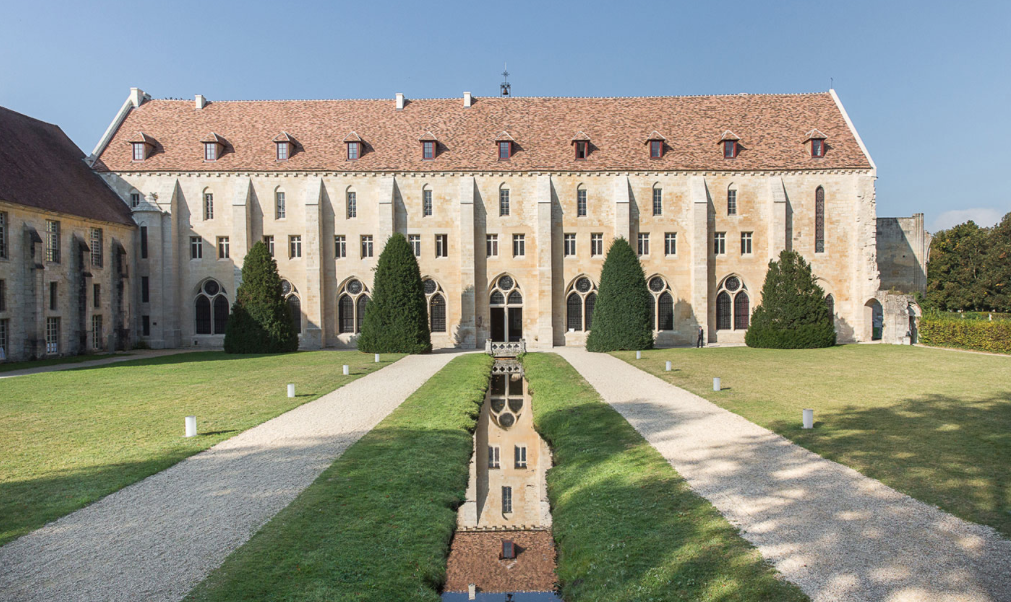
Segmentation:
{"type": "Polygon", "coordinates": [[[186,600],[438,601],[491,361],[453,359],[186,600]]]}

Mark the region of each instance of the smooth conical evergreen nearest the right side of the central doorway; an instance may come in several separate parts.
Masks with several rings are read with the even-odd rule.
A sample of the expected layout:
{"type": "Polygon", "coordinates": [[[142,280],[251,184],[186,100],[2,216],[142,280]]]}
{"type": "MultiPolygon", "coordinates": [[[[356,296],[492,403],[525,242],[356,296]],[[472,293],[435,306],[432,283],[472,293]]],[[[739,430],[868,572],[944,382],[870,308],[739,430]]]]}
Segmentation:
{"type": "Polygon", "coordinates": [[[652,347],[652,295],[646,288],[646,274],[632,246],[619,238],[612,243],[604,260],[593,309],[593,328],[586,337],[586,350],[607,352],[652,347]]]}

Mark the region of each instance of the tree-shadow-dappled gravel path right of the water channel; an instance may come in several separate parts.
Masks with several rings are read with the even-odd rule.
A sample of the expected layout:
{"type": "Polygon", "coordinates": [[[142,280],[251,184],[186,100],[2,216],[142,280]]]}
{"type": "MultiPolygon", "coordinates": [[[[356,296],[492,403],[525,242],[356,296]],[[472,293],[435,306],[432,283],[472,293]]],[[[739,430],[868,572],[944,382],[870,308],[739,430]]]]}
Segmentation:
{"type": "MultiPolygon", "coordinates": [[[[815,602],[1011,600],[1011,541],[992,528],[826,460],[611,355],[556,351],[815,602]]],[[[802,406],[799,400],[798,421],[802,406]]]]}

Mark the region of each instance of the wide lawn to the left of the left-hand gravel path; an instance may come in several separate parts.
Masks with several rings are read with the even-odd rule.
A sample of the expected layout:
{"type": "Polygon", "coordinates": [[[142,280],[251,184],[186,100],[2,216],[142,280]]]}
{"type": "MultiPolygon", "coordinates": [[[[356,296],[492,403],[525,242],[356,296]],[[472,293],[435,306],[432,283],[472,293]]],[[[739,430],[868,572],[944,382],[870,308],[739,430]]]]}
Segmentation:
{"type": "Polygon", "coordinates": [[[0,379],[0,544],[399,357],[182,353],[0,379]]]}

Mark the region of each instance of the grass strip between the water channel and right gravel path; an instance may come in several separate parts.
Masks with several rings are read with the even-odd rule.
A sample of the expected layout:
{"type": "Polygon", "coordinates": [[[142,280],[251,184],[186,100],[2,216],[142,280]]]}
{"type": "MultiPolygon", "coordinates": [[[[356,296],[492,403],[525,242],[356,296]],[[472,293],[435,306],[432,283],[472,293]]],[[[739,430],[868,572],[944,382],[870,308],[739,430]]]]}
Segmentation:
{"type": "Polygon", "coordinates": [[[564,359],[524,366],[567,602],[807,600],[564,359]]]}

